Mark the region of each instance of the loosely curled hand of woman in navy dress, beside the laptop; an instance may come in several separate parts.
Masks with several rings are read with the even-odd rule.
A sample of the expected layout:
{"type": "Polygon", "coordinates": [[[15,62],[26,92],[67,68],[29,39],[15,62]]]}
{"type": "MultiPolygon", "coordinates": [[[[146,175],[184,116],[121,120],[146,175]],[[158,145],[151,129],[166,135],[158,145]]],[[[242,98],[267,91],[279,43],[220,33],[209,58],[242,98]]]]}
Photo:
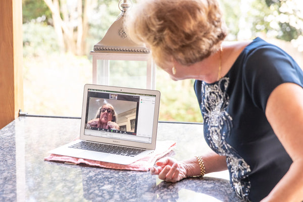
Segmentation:
{"type": "Polygon", "coordinates": [[[187,177],[186,165],[170,157],[159,160],[156,165],[158,167],[152,167],[150,174],[158,175],[164,181],[177,182],[187,177]]]}

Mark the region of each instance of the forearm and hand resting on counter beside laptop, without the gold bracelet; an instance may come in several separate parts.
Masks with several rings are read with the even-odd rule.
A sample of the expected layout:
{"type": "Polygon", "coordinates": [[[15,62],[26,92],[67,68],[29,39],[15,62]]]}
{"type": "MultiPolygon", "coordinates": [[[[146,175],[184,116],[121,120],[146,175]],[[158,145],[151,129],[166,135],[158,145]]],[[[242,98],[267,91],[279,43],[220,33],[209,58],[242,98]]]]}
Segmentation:
{"type": "MultiPolygon", "coordinates": [[[[211,152],[202,156],[206,173],[218,172],[227,169],[226,157],[211,152]]],[[[168,182],[177,182],[183,178],[200,175],[201,170],[195,157],[185,161],[177,162],[172,158],[163,158],[150,169],[152,175],[159,175],[159,179],[168,182]]]]}

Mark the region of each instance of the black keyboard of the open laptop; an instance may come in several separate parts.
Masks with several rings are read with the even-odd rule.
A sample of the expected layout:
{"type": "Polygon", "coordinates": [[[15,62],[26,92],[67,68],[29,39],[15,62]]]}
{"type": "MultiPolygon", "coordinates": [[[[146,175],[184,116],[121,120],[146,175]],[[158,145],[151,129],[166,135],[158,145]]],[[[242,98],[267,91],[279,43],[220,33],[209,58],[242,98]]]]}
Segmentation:
{"type": "Polygon", "coordinates": [[[95,142],[86,142],[86,141],[78,142],[69,147],[90,150],[90,151],[98,151],[98,152],[108,153],[108,154],[129,156],[129,157],[134,157],[134,156],[142,153],[142,151],[144,151],[144,149],[110,145],[110,144],[102,144],[102,143],[95,143],[95,142]]]}

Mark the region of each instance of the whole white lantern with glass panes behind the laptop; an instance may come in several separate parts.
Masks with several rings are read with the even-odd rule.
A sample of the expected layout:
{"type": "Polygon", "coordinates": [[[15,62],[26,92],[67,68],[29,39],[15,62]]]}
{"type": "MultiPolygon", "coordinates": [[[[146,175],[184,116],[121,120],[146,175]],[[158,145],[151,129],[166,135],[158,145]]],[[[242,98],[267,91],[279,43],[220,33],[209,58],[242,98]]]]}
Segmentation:
{"type": "Polygon", "coordinates": [[[146,88],[156,88],[156,64],[151,59],[149,50],[134,43],[127,36],[123,26],[123,18],[131,4],[130,0],[123,0],[123,3],[120,0],[118,7],[122,13],[90,52],[93,84],[142,88],[143,71],[146,88]],[[120,64],[117,65],[118,63],[120,64]],[[141,75],[135,75],[138,72],[141,72],[141,75]]]}

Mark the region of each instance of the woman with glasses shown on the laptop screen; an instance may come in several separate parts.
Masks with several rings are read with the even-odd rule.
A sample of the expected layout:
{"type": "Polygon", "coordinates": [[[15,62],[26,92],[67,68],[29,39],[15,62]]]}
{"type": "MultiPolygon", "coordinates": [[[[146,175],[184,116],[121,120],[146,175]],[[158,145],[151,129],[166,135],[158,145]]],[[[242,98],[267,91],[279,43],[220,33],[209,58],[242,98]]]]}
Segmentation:
{"type": "Polygon", "coordinates": [[[98,109],[95,118],[88,121],[87,124],[91,127],[119,130],[116,117],[114,107],[111,104],[105,104],[98,109]]]}

